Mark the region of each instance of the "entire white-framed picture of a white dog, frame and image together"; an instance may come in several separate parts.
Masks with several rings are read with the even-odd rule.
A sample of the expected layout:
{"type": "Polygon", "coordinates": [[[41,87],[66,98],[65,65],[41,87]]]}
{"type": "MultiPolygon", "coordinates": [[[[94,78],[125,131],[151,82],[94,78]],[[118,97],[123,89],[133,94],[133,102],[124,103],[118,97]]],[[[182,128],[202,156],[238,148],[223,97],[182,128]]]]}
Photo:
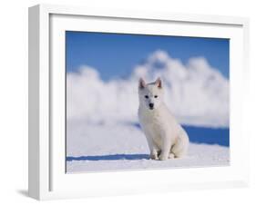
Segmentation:
{"type": "Polygon", "coordinates": [[[29,196],[248,184],[246,18],[29,8],[29,196]]]}

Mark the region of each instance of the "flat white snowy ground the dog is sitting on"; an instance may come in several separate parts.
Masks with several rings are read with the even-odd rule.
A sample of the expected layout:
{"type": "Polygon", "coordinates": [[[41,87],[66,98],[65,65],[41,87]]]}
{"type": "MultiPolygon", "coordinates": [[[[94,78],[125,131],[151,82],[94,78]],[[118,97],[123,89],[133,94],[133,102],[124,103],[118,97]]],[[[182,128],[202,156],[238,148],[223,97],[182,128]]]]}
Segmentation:
{"type": "MultiPolygon", "coordinates": [[[[207,136],[206,136],[207,137],[207,136]]],[[[229,148],[189,144],[183,159],[148,160],[148,144],[132,124],[67,123],[67,172],[190,168],[229,165],[229,148]]]]}

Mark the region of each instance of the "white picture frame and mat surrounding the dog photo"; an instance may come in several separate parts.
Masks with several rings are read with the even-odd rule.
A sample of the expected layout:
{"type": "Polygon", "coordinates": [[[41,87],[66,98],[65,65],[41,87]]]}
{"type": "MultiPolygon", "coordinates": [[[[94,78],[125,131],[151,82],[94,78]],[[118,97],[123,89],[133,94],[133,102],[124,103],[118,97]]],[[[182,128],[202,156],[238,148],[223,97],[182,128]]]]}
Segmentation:
{"type": "Polygon", "coordinates": [[[246,121],[242,106],[246,101],[243,91],[249,69],[248,29],[249,20],[241,17],[100,10],[65,5],[30,7],[29,196],[50,200],[246,186],[249,183],[249,161],[246,160],[249,139],[242,127],[246,121]],[[150,26],[143,27],[146,22],[150,26]],[[230,166],[66,174],[63,31],[117,32],[118,29],[120,33],[138,34],[139,28],[139,34],[169,34],[163,29],[163,24],[176,24],[177,29],[172,33],[175,35],[230,38],[230,166]],[[152,25],[159,26],[157,31],[150,30],[152,25]],[[217,27],[220,29],[214,30],[217,27]]]}

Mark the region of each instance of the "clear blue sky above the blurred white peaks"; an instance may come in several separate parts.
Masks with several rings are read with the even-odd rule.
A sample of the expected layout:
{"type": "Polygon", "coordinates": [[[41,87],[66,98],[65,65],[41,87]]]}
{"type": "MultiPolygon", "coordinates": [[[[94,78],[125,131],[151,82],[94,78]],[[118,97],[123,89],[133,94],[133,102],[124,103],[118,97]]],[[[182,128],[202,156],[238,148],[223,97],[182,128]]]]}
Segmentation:
{"type": "Polygon", "coordinates": [[[220,38],[66,32],[67,72],[86,64],[97,69],[103,80],[127,76],[156,50],[187,63],[203,56],[229,78],[230,41],[220,38]]]}

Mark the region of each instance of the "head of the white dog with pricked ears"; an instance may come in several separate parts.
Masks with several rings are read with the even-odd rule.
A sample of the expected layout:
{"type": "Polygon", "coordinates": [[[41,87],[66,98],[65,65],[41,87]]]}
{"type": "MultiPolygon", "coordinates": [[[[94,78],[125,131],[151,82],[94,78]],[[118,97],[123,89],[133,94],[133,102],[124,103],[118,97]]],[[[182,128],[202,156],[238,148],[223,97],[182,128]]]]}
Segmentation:
{"type": "Polygon", "coordinates": [[[158,78],[153,83],[145,83],[145,81],[140,78],[138,81],[138,98],[139,103],[148,108],[148,110],[152,111],[157,109],[163,99],[163,86],[161,79],[158,78]]]}

